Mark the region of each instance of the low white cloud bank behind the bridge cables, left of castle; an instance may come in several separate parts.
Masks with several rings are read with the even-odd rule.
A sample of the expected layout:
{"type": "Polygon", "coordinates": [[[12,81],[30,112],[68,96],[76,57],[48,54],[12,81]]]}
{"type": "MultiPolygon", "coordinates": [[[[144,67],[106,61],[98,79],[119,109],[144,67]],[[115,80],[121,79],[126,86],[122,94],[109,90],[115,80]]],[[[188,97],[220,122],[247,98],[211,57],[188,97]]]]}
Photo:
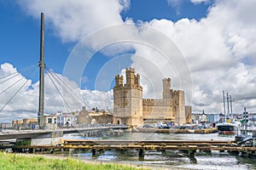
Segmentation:
{"type": "MultiPolygon", "coordinates": [[[[14,82],[22,78],[22,81],[17,83],[13,88],[9,88],[5,93],[0,94],[0,109],[3,108],[3,111],[0,111],[0,116],[2,117],[0,118],[0,122],[37,117],[39,82],[32,84],[31,80],[27,80],[26,77],[20,75],[19,72],[17,72],[18,76],[10,78],[12,76],[9,75],[15,72],[17,72],[16,68],[9,63],[4,63],[0,67],[1,93],[4,89],[9,88],[14,82]],[[7,79],[9,80],[6,81],[7,79]],[[24,88],[20,89],[24,82],[26,82],[24,88]],[[15,95],[19,89],[19,93],[15,95]],[[14,95],[15,97],[11,99],[14,95]],[[11,99],[10,102],[9,99],[11,99]],[[4,105],[6,106],[4,107],[4,105]]],[[[50,81],[49,76],[45,77],[45,114],[55,113],[56,111],[80,111],[83,105],[85,105],[87,109],[96,106],[101,109],[112,108],[113,93],[111,91],[80,90],[79,86],[75,82],[69,81],[67,77],[62,77],[60,74],[56,73],[55,77],[59,77],[62,82],[65,82],[68,88],[65,88],[63,83],[60,87],[55,79],[53,79],[53,82],[55,82],[54,85],[54,83],[50,81]],[[55,86],[61,94],[59,94],[55,86]],[[70,94],[68,94],[68,92],[70,94]],[[73,99],[70,96],[72,96],[73,99]]]]}

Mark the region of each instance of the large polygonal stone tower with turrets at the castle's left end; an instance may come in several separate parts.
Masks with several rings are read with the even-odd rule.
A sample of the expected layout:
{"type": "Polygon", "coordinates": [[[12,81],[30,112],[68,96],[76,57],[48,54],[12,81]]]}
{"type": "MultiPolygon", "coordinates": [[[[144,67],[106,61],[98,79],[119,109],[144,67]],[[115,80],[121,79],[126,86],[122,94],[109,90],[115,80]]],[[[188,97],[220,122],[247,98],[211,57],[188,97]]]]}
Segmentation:
{"type": "Polygon", "coordinates": [[[133,68],[126,69],[126,84],[123,77],[115,77],[113,88],[113,124],[143,124],[143,88],[140,76],[135,75],[133,68]]]}

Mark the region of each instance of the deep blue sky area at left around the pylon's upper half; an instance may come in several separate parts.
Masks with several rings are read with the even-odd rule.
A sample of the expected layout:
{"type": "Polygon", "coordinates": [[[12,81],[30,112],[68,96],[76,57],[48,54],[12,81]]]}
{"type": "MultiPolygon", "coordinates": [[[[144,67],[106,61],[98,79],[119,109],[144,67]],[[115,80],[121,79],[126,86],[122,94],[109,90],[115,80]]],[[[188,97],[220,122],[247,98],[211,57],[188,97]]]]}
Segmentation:
{"type": "MultiPolygon", "coordinates": [[[[40,12],[38,13],[40,15],[40,12]]],[[[28,16],[15,1],[0,3],[1,63],[9,62],[33,82],[38,77],[29,77],[29,72],[22,71],[32,65],[38,65],[40,46],[40,20],[28,16]]],[[[56,72],[62,72],[69,48],[74,43],[63,43],[56,37],[54,31],[46,26],[45,29],[45,59],[56,72]]]]}

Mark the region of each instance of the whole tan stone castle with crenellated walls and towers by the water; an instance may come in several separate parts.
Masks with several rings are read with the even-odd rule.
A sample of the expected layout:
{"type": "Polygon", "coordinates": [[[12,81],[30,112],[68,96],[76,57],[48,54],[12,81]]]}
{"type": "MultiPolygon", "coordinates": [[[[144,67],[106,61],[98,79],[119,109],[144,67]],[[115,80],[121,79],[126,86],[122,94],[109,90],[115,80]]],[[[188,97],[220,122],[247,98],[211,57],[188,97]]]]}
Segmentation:
{"type": "Polygon", "coordinates": [[[143,99],[140,75],[133,68],[115,77],[113,88],[113,124],[132,126],[156,122],[178,125],[192,122],[191,106],[185,106],[184,91],[171,89],[171,79],[163,79],[163,99],[143,99]]]}

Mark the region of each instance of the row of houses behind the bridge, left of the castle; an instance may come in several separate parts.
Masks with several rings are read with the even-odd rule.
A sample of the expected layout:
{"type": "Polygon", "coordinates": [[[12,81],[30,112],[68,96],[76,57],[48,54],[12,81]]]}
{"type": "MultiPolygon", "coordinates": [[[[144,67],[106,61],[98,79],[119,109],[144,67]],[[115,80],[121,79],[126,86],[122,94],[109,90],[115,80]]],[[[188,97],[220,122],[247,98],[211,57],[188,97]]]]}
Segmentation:
{"type": "MultiPolygon", "coordinates": [[[[62,112],[44,116],[44,128],[55,129],[63,127],[79,127],[83,124],[95,123],[113,123],[113,115],[110,111],[99,110],[93,108],[86,110],[85,107],[81,111],[62,112]]],[[[38,119],[23,119],[12,122],[15,129],[37,129],[38,119]]]]}

